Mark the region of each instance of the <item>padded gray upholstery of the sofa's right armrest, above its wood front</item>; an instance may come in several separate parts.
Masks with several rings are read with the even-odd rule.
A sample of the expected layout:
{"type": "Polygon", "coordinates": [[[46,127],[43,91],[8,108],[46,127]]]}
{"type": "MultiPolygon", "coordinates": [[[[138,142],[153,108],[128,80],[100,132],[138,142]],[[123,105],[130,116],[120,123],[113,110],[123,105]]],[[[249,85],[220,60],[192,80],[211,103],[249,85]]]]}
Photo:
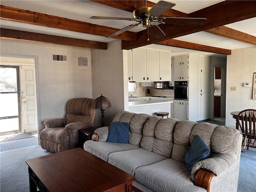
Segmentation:
{"type": "Polygon", "coordinates": [[[226,172],[238,163],[236,155],[230,154],[212,154],[210,158],[204,159],[194,164],[191,171],[192,181],[195,181],[196,174],[200,168],[206,169],[216,176],[226,172]]]}

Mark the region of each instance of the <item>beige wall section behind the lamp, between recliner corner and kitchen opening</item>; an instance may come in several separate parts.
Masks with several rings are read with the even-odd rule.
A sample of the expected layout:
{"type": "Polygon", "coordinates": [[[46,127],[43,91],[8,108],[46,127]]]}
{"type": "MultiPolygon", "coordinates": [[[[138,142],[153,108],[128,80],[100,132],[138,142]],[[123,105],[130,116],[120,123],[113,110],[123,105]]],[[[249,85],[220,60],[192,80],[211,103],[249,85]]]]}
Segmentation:
{"type": "MultiPolygon", "coordinates": [[[[95,99],[102,94],[110,100],[111,108],[106,109],[104,114],[105,125],[109,125],[113,117],[124,110],[125,86],[121,40],[109,42],[108,50],[92,49],[91,57],[92,98],[95,99]]],[[[126,92],[128,92],[128,82],[126,84],[126,92]]],[[[99,109],[96,112],[94,125],[101,126],[101,111],[99,109]]]]}

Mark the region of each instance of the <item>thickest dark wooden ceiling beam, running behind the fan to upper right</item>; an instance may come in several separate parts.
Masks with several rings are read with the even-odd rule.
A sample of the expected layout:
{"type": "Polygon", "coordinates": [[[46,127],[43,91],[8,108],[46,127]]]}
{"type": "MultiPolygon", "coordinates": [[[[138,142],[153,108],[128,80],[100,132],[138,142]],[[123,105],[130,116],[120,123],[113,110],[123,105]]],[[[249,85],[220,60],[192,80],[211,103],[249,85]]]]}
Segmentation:
{"type": "Polygon", "coordinates": [[[160,41],[176,38],[208,30],[211,28],[223,26],[233,22],[256,17],[256,3],[254,1],[224,1],[204,9],[189,14],[189,17],[207,18],[207,22],[202,26],[174,26],[168,24],[160,24],[160,28],[166,34],[166,37],[160,39],[150,38],[147,41],[147,31],[143,30],[137,33],[137,41],[122,40],[122,49],[132,49],[148,44],[154,44],[160,41]],[[228,11],[230,10],[230,11],[228,11]],[[232,10],[232,11],[231,11],[232,10]]]}

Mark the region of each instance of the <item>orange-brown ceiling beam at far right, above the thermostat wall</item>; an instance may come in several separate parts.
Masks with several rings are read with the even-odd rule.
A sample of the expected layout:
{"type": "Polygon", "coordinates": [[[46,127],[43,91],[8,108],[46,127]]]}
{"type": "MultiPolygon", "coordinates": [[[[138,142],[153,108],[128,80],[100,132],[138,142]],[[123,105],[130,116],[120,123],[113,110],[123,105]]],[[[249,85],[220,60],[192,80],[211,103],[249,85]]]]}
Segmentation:
{"type": "Polygon", "coordinates": [[[205,30],[205,32],[256,45],[255,36],[228,28],[226,26],[220,26],[220,27],[208,29],[208,30],[205,30]]]}

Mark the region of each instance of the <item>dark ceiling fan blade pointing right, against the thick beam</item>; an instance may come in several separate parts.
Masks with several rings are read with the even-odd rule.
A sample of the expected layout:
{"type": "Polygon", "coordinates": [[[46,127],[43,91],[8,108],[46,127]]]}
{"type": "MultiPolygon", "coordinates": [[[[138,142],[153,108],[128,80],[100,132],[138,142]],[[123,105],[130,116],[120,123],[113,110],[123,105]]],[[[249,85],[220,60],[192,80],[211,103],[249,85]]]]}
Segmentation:
{"type": "Polygon", "coordinates": [[[180,17],[166,17],[159,18],[158,22],[165,24],[174,25],[204,25],[206,23],[206,18],[180,18],[180,17]]]}

